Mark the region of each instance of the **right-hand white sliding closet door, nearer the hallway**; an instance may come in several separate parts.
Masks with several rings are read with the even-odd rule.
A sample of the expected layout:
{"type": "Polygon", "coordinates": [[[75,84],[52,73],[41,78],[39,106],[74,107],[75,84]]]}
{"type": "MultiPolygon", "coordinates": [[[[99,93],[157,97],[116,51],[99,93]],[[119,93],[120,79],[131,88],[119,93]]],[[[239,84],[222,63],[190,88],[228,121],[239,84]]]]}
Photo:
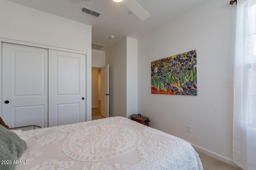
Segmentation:
{"type": "Polygon", "coordinates": [[[49,50],[49,127],[86,121],[85,55],[49,50]]]}

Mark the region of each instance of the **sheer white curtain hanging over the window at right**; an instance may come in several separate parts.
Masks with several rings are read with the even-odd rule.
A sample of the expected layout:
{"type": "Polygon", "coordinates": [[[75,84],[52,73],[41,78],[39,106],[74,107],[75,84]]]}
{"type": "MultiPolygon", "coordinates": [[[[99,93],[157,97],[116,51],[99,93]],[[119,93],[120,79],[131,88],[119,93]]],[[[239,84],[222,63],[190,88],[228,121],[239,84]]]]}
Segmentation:
{"type": "Polygon", "coordinates": [[[256,170],[256,0],[238,0],[233,162],[256,170]]]}

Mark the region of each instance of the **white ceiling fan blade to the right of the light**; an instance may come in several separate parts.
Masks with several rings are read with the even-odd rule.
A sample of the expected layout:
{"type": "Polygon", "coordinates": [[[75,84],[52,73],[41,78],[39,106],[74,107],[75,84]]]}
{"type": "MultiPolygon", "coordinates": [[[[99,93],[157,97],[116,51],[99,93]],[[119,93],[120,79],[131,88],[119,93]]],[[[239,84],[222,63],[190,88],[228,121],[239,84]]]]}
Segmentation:
{"type": "Polygon", "coordinates": [[[124,0],[123,3],[142,21],[150,16],[150,14],[135,0],[124,0]]]}

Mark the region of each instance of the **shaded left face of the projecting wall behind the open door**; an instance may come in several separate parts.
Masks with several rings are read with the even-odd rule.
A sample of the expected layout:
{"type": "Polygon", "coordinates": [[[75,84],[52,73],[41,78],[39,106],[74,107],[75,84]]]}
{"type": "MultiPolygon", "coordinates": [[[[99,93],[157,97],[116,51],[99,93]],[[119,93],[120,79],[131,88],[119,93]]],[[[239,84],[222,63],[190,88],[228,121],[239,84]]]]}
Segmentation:
{"type": "Polygon", "coordinates": [[[126,44],[125,38],[106,51],[106,64],[109,64],[109,115],[111,117],[126,117],[126,44]]]}

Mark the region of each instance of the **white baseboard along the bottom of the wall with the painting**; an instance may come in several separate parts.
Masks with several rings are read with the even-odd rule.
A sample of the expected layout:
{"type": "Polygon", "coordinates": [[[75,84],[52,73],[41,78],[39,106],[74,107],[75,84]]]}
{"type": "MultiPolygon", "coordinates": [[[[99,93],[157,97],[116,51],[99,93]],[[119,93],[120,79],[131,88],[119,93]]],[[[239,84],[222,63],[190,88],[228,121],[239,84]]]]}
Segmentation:
{"type": "Polygon", "coordinates": [[[237,166],[236,164],[234,164],[234,162],[232,161],[232,159],[230,159],[230,158],[228,158],[228,157],[226,157],[226,156],[222,156],[222,155],[220,155],[220,154],[217,154],[217,153],[215,153],[215,152],[212,152],[212,151],[210,151],[210,150],[208,150],[208,149],[204,149],[204,148],[199,147],[199,146],[197,146],[197,145],[194,145],[194,144],[192,144],[192,143],[190,143],[190,144],[192,145],[192,147],[193,147],[194,149],[196,149],[196,150],[198,150],[198,151],[200,151],[200,152],[203,152],[203,153],[208,154],[209,156],[212,156],[212,157],[214,157],[214,158],[216,158],[216,159],[218,159],[218,160],[221,160],[221,161],[226,162],[226,163],[228,163],[228,164],[230,164],[230,165],[232,165],[232,166],[235,166],[235,167],[237,167],[237,168],[240,168],[239,166],[237,166]]]}

